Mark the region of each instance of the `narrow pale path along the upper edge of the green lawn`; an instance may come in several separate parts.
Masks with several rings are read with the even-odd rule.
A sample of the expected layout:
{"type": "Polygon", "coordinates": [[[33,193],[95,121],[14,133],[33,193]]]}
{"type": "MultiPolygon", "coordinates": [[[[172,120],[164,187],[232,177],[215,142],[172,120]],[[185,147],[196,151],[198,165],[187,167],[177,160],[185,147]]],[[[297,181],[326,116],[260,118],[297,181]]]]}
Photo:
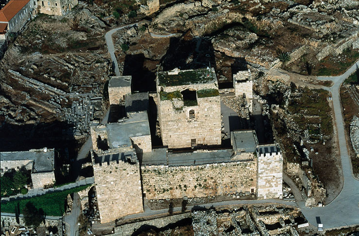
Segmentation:
{"type": "Polygon", "coordinates": [[[32,197],[38,197],[38,196],[41,196],[41,195],[44,195],[44,194],[47,194],[47,193],[64,191],[64,190],[71,189],[71,188],[74,188],[74,187],[90,185],[90,184],[94,184],[94,177],[89,177],[89,178],[77,181],[75,183],[71,183],[71,184],[68,184],[68,185],[63,185],[63,186],[60,186],[60,187],[51,187],[51,188],[47,188],[47,189],[41,189],[41,188],[30,189],[27,194],[17,194],[16,196],[10,196],[10,197],[6,197],[6,198],[1,198],[1,202],[20,200],[20,199],[28,199],[28,198],[32,198],[32,197]]]}

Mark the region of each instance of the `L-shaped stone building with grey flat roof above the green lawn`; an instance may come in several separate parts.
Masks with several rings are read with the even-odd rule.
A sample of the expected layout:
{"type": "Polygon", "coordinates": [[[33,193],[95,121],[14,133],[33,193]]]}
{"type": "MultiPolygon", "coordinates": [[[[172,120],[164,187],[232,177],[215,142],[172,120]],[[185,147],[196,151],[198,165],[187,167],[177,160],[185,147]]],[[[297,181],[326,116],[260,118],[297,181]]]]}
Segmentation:
{"type": "Polygon", "coordinates": [[[0,152],[1,176],[11,169],[31,171],[33,188],[43,188],[55,183],[54,149],[21,152],[0,152]]]}

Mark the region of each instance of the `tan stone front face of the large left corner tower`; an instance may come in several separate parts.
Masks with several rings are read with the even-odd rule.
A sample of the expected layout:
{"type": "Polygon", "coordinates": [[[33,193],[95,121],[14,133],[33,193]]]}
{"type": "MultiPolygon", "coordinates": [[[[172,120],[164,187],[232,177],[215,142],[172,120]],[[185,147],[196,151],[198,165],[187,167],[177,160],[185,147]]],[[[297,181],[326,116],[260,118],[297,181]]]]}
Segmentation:
{"type": "Polygon", "coordinates": [[[93,167],[101,223],[143,212],[138,163],[112,161],[93,167]]]}

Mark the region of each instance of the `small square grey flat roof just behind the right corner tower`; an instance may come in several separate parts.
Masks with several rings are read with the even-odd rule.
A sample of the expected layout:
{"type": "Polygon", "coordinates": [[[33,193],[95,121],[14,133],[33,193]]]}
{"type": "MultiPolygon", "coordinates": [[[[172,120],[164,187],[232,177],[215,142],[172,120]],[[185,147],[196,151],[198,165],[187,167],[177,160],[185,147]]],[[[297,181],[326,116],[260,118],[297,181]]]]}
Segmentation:
{"type": "Polygon", "coordinates": [[[231,132],[233,139],[233,148],[236,150],[244,150],[245,152],[255,152],[257,143],[253,130],[237,130],[231,132]]]}

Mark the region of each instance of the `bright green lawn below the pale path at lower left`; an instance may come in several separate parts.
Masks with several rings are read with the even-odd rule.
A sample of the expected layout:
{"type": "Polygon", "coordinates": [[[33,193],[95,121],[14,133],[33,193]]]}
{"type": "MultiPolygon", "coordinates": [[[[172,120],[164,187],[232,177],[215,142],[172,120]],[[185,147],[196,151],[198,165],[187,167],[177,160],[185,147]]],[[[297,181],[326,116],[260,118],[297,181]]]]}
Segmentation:
{"type": "Polygon", "coordinates": [[[1,203],[1,212],[15,213],[17,204],[20,205],[20,214],[27,202],[33,202],[37,209],[42,208],[47,216],[62,216],[65,212],[65,200],[68,194],[79,192],[90,185],[84,185],[67,189],[64,191],[53,192],[33,197],[31,199],[14,200],[1,203]]]}

